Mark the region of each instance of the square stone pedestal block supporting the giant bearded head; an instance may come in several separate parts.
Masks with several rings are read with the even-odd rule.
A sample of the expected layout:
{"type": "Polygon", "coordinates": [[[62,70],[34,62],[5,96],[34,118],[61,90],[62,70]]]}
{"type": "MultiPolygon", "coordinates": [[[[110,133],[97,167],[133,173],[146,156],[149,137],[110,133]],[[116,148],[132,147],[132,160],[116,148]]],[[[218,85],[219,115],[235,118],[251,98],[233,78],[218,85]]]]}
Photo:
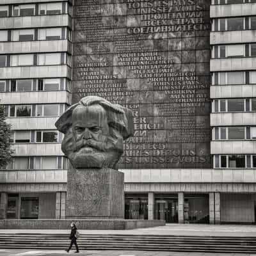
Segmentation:
{"type": "Polygon", "coordinates": [[[68,170],[66,218],[124,218],[124,173],[68,170]]]}

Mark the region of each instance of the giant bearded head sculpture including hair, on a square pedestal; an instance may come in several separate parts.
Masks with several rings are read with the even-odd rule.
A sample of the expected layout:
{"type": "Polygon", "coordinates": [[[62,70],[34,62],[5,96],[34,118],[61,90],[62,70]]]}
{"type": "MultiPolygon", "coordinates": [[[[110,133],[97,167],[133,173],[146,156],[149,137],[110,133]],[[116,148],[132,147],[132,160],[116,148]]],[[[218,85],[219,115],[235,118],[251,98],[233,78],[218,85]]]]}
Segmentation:
{"type": "Polygon", "coordinates": [[[131,110],[96,96],[81,99],[57,120],[61,149],[74,168],[116,168],[133,134],[131,110]]]}

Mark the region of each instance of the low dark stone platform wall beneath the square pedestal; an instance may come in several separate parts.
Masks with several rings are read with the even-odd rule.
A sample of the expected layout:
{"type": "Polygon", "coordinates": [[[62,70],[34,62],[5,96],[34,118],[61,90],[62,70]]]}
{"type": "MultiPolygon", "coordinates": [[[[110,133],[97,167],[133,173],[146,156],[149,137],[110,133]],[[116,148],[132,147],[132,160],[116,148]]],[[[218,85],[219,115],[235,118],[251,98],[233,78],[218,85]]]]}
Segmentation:
{"type": "Polygon", "coordinates": [[[74,221],[80,230],[125,230],[164,226],[163,220],[0,220],[0,229],[70,229],[74,221]]]}

